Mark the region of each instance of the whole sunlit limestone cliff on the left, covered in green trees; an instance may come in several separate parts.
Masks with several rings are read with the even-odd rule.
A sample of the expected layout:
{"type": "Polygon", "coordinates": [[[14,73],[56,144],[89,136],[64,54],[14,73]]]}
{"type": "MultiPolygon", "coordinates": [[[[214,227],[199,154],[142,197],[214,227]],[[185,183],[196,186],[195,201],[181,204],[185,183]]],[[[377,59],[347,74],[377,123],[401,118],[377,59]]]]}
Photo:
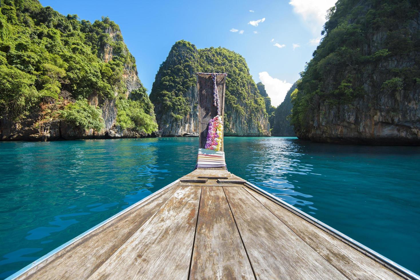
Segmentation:
{"type": "Polygon", "coordinates": [[[109,18],[92,24],[80,21],[76,15],[65,17],[50,7],[42,7],[37,0],[24,1],[23,5],[16,7],[7,5],[14,5],[13,1],[2,3],[1,7],[16,11],[18,21],[22,22],[18,24],[10,14],[7,17],[0,14],[3,29],[21,29],[2,37],[3,43],[9,46],[7,49],[0,43],[2,50],[6,51],[0,52],[0,60],[4,59],[5,70],[13,73],[5,76],[6,85],[0,88],[3,90],[0,100],[5,101],[5,106],[0,106],[1,140],[155,135],[150,130],[153,124],[144,128],[139,123],[144,120],[155,122],[153,105],[138,78],[135,59],[124,44],[117,24],[109,18]],[[45,26],[50,33],[39,31],[45,26]],[[37,36],[19,36],[19,33],[31,32],[37,36]],[[56,40],[55,47],[49,48],[52,40],[56,40]],[[43,57],[29,61],[29,65],[28,60],[16,61],[13,58],[17,54],[36,56],[32,46],[37,45],[43,48],[43,57]],[[26,80],[14,80],[20,76],[26,80]],[[21,92],[12,92],[7,85],[13,83],[23,83],[26,87],[21,86],[21,92]],[[87,100],[86,106],[80,108],[74,105],[76,100],[87,100]],[[23,109],[17,111],[15,108],[21,107],[16,104],[22,101],[24,104],[19,106],[23,109]],[[89,117],[86,110],[95,108],[100,109],[100,116],[95,120],[102,122],[99,131],[89,127],[89,121],[84,119],[89,117]],[[62,112],[71,109],[71,117],[63,119],[62,112]],[[136,122],[136,117],[141,121],[136,122]]]}

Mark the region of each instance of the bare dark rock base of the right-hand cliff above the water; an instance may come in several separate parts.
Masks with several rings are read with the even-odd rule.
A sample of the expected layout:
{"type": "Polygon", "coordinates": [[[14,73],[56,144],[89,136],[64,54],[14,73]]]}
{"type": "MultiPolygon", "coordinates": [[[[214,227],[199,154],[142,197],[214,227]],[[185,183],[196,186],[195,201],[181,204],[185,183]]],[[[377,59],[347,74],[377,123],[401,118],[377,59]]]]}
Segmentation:
{"type": "Polygon", "coordinates": [[[368,94],[346,105],[319,102],[309,133],[318,142],[420,145],[420,91],[368,94]]]}

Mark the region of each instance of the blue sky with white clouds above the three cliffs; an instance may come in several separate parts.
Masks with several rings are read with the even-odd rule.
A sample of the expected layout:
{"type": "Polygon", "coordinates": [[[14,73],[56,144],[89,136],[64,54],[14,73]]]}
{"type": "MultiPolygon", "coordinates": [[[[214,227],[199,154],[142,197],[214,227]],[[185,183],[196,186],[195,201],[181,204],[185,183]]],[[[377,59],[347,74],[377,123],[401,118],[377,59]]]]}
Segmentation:
{"type": "Polygon", "coordinates": [[[139,78],[150,90],[172,45],[226,47],[247,60],[277,106],[299,78],[320,39],[325,11],[334,0],[111,1],[40,0],[63,15],[91,22],[109,16],[136,58],[139,78]]]}

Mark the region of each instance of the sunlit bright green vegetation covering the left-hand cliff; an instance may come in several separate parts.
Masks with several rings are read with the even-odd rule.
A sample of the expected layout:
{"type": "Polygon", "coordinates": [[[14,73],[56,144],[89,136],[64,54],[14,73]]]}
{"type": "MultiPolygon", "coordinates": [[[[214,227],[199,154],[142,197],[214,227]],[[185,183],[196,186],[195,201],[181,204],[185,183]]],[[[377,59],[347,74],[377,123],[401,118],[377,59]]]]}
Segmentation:
{"type": "MultiPolygon", "coordinates": [[[[89,96],[103,100],[126,94],[123,71],[135,69],[135,60],[118,25],[109,18],[90,23],[42,7],[37,0],[0,3],[0,117],[18,122],[39,111],[42,104],[78,100],[62,108],[55,106],[44,117],[82,119],[86,115],[80,108],[89,108],[82,105],[89,96]],[[112,57],[106,57],[107,48],[112,57]]],[[[146,92],[141,83],[139,87],[146,92]]],[[[148,98],[134,102],[139,103],[137,107],[152,106],[148,98]]],[[[152,113],[147,123],[153,119],[152,113]]],[[[71,123],[86,129],[100,127],[91,122],[71,123]]]]}

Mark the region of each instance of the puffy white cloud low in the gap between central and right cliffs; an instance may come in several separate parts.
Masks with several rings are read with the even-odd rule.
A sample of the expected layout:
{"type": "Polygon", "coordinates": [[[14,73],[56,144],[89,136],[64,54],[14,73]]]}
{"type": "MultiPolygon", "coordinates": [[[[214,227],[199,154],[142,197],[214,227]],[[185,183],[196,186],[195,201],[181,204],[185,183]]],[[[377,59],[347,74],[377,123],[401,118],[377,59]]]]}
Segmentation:
{"type": "Polygon", "coordinates": [[[283,102],[287,91],[291,88],[291,83],[271,77],[266,71],[258,73],[261,82],[265,86],[268,96],[271,99],[271,105],[278,106],[283,102]]]}

